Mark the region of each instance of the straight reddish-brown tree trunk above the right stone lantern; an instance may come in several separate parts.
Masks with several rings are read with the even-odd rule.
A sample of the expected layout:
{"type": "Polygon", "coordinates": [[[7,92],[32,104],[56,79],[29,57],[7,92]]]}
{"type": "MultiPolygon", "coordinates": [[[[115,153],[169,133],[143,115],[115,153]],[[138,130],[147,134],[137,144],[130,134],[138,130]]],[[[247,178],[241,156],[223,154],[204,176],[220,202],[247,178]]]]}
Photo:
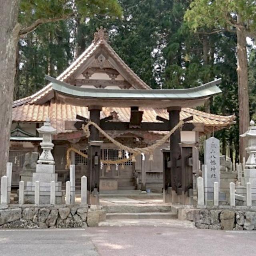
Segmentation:
{"type": "MultiPolygon", "coordinates": [[[[240,17],[237,17],[239,24],[240,17]]],[[[237,35],[237,76],[238,76],[238,101],[239,101],[239,134],[246,132],[249,126],[249,96],[248,96],[248,64],[246,50],[246,29],[236,28],[237,35]]],[[[246,156],[244,138],[239,139],[240,162],[246,156]]]]}

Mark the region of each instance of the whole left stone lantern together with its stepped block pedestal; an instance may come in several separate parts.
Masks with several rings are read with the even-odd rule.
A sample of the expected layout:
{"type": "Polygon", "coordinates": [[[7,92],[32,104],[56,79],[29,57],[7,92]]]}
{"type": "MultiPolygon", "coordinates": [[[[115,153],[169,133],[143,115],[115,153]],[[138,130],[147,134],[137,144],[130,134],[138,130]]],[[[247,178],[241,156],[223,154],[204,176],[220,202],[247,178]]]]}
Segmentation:
{"type": "Polygon", "coordinates": [[[52,143],[52,135],[56,130],[50,125],[50,119],[46,118],[46,122],[41,128],[36,129],[39,134],[42,134],[43,141],[40,143],[42,153],[36,164],[36,172],[33,173],[32,182],[27,182],[26,190],[24,191],[24,203],[34,203],[35,182],[40,182],[40,204],[50,204],[50,188],[51,182],[55,181],[55,196],[56,204],[64,203],[64,191],[61,190],[61,182],[57,181],[55,173],[55,162],[51,150],[54,147],[52,143]]]}

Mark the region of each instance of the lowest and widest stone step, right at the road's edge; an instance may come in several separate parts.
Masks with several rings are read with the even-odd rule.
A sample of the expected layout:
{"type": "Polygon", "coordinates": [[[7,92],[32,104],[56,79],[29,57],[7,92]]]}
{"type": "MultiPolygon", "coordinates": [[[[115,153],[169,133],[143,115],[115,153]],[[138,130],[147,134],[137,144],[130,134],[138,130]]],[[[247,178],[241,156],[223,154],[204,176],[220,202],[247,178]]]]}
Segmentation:
{"type": "Polygon", "coordinates": [[[189,220],[106,220],[99,223],[101,227],[122,227],[122,226],[153,226],[170,228],[194,228],[194,222],[189,220]]]}

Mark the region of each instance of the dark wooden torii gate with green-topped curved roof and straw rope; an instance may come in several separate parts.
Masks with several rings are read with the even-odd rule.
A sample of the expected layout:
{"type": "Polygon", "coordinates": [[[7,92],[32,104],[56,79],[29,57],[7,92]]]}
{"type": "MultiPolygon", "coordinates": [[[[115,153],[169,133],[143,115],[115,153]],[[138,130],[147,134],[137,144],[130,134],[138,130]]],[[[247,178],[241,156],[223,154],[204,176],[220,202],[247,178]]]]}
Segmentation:
{"type": "MultiPolygon", "coordinates": [[[[80,121],[68,121],[65,123],[66,130],[83,129],[88,137],[88,162],[87,170],[88,190],[90,204],[99,204],[100,192],[100,166],[106,164],[111,171],[110,165],[124,164],[128,160],[135,161],[136,155],[150,155],[157,146],[170,140],[169,167],[164,170],[164,198],[171,202],[188,204],[189,189],[193,186],[190,170],[187,166],[192,153],[192,147],[182,145],[180,131],[200,131],[202,124],[192,124],[188,121],[193,117],[180,120],[182,107],[195,107],[204,104],[208,98],[221,92],[217,84],[220,79],[209,82],[202,86],[189,89],[167,90],[115,90],[100,88],[81,88],[60,82],[46,76],[52,82],[55,98],[60,102],[77,106],[88,106],[89,119],[77,116],[80,121]],[[100,118],[100,112],[104,107],[130,108],[130,122],[112,122],[113,116],[100,118]],[[143,111],[140,107],[165,108],[169,113],[169,119],[156,116],[157,122],[142,122],[143,111]],[[106,131],[164,131],[166,134],[161,140],[152,142],[146,148],[130,148],[119,143],[109,136],[106,131]],[[100,134],[110,140],[119,150],[120,159],[111,161],[102,159],[101,147],[103,141],[100,134]],[[128,158],[123,158],[122,150],[130,153],[128,158]]],[[[153,158],[151,160],[154,160],[153,158]]]]}

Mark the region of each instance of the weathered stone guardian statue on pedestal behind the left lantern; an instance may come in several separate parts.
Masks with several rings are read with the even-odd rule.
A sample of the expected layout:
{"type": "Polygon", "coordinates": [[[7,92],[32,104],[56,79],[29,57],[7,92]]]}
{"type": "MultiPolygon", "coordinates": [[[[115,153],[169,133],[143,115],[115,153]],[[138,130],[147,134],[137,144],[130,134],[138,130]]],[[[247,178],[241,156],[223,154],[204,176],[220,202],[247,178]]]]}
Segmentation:
{"type": "Polygon", "coordinates": [[[25,154],[25,160],[20,173],[20,180],[24,181],[24,185],[27,185],[28,181],[32,181],[33,172],[36,171],[36,163],[38,160],[38,152],[28,152],[25,154]]]}

